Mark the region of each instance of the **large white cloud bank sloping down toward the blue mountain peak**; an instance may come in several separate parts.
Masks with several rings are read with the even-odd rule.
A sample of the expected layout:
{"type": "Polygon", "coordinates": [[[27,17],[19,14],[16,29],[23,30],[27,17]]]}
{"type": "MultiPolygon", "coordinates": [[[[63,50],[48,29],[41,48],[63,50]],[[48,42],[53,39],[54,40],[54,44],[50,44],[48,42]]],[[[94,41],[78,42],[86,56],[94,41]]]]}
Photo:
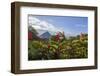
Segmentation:
{"type": "Polygon", "coordinates": [[[29,26],[34,27],[36,30],[47,30],[50,32],[62,31],[61,28],[57,28],[53,24],[33,16],[29,16],[29,26]]]}

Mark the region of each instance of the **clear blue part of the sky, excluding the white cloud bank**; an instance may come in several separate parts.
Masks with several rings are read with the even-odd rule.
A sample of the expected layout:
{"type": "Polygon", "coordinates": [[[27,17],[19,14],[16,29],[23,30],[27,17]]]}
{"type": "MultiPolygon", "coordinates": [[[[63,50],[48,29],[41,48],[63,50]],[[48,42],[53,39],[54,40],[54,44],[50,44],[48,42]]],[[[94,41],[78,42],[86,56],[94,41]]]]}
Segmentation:
{"type": "MultiPolygon", "coordinates": [[[[75,16],[43,16],[43,15],[30,15],[30,23],[32,22],[32,18],[36,18],[37,22],[41,23],[47,27],[49,24],[54,28],[62,30],[65,34],[78,35],[82,33],[88,33],[88,17],[75,17],[75,16]]],[[[36,20],[35,19],[35,20],[36,20]]],[[[34,26],[33,26],[34,27],[34,26]]],[[[56,30],[54,29],[54,30],[56,30]]],[[[52,28],[51,28],[52,30],[52,28]]]]}

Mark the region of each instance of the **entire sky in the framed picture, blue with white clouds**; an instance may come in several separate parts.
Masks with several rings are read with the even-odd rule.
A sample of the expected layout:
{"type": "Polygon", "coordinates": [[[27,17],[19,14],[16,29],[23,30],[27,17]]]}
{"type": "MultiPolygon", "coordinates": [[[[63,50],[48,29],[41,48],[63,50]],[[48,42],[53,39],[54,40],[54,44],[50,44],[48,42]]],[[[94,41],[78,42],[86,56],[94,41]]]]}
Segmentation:
{"type": "Polygon", "coordinates": [[[28,15],[28,23],[40,34],[43,31],[64,31],[65,35],[71,36],[88,33],[88,17],[28,15]]]}

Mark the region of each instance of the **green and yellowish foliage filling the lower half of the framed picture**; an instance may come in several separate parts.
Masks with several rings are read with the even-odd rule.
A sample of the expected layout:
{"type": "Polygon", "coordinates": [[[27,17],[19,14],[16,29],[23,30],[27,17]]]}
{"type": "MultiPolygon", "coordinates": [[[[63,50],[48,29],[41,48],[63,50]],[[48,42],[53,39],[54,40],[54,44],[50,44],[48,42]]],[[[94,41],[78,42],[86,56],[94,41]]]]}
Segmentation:
{"type": "Polygon", "coordinates": [[[48,41],[29,40],[28,59],[29,60],[49,60],[49,59],[76,59],[88,57],[87,34],[82,40],[80,36],[57,38],[52,36],[48,41]]]}

